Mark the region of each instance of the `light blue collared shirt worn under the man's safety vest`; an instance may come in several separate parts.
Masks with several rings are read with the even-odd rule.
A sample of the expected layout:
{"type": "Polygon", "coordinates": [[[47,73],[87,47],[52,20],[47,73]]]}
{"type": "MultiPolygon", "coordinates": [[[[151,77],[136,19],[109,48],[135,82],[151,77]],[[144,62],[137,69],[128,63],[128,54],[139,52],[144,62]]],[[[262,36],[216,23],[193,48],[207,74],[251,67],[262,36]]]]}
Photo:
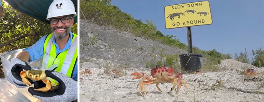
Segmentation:
{"type": "MultiPolygon", "coordinates": [[[[37,61],[38,59],[40,59],[41,57],[43,57],[44,52],[43,52],[43,48],[44,48],[44,43],[45,43],[45,38],[48,36],[45,35],[43,37],[41,37],[35,44],[33,44],[31,47],[25,48],[23,51],[27,51],[30,55],[30,59],[28,60],[28,62],[32,62],[32,61],[37,61]]],[[[65,50],[70,48],[71,42],[72,42],[72,32],[70,32],[70,38],[67,41],[67,43],[65,44],[64,48],[62,48],[62,50],[60,50],[59,46],[57,45],[56,41],[55,41],[55,37],[53,37],[52,43],[56,46],[56,55],[58,55],[61,52],[64,52],[65,50]]],[[[77,62],[78,63],[78,62],[77,62]]],[[[77,81],[77,64],[75,65],[74,71],[72,73],[72,79],[74,79],[75,81],[77,81]]]]}

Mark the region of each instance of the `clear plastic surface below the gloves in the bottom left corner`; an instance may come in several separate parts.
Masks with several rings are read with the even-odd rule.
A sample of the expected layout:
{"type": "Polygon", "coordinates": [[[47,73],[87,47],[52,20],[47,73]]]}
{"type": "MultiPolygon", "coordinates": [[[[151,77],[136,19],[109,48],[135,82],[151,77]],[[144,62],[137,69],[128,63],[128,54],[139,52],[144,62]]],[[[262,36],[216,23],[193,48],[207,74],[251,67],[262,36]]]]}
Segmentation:
{"type": "Polygon", "coordinates": [[[0,102],[41,102],[28,92],[28,87],[17,88],[6,78],[0,78],[0,102]]]}

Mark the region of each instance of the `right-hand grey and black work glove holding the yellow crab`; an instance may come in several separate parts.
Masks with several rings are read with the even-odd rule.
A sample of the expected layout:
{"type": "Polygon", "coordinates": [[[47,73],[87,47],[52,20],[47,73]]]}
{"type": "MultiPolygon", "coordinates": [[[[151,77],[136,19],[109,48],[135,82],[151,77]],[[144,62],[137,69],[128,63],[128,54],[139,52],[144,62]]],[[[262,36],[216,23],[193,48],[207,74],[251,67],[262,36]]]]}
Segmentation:
{"type": "MultiPolygon", "coordinates": [[[[59,82],[59,86],[57,89],[48,92],[35,91],[33,87],[28,88],[28,92],[35,98],[40,99],[43,102],[71,102],[77,99],[78,86],[75,80],[56,71],[46,70],[45,73],[48,77],[57,80],[59,82]]],[[[37,89],[37,86],[34,86],[35,89],[37,89]]],[[[42,85],[42,87],[45,86],[42,85]]]]}

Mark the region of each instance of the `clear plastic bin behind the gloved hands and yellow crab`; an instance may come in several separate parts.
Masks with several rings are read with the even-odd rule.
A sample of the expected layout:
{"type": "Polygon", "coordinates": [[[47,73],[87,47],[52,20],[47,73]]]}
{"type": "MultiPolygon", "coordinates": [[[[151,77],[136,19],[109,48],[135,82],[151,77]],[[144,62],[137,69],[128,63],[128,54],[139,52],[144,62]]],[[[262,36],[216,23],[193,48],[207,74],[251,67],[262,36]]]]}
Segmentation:
{"type": "MultiPolygon", "coordinates": [[[[7,77],[6,73],[7,73],[7,69],[10,67],[10,62],[12,59],[16,58],[16,56],[22,52],[23,49],[17,49],[17,50],[11,50],[8,52],[4,52],[0,54],[0,58],[3,64],[3,69],[4,69],[4,75],[5,78],[7,77]]],[[[32,69],[42,69],[42,70],[53,70],[54,68],[56,68],[58,66],[58,64],[60,63],[60,60],[55,58],[55,57],[51,57],[48,54],[45,54],[42,58],[38,59],[37,61],[32,61],[31,63],[28,63],[29,66],[31,66],[32,69]],[[43,57],[48,58],[49,61],[53,61],[53,65],[52,66],[48,66],[47,68],[47,63],[43,62],[43,57]]]]}

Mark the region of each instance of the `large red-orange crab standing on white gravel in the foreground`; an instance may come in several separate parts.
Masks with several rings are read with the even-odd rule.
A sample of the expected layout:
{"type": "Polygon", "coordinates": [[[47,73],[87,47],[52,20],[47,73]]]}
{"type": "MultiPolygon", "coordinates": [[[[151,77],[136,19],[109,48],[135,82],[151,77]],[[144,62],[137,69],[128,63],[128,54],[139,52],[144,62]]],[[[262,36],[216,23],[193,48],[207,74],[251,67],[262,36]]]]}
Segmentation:
{"type": "MultiPolygon", "coordinates": [[[[139,93],[144,96],[141,91],[143,90],[144,94],[146,95],[145,92],[145,85],[150,85],[150,84],[156,84],[156,87],[158,88],[158,90],[160,92],[162,92],[160,90],[160,88],[158,87],[159,83],[172,83],[173,87],[171,88],[170,91],[172,91],[175,86],[178,84],[177,86],[177,92],[179,92],[180,87],[182,86],[182,81],[183,84],[185,86],[185,88],[187,89],[187,93],[188,93],[188,86],[186,85],[186,82],[182,79],[182,74],[180,72],[177,72],[176,75],[173,75],[174,73],[174,69],[172,67],[167,67],[167,66],[163,66],[163,67],[157,67],[153,68],[151,70],[151,76],[153,78],[148,77],[147,74],[141,72],[135,72],[132,73],[131,75],[135,75],[135,77],[132,79],[138,79],[138,78],[143,78],[140,82],[138,82],[139,86],[139,93]],[[148,81],[144,81],[144,80],[148,80],[148,81]]],[[[138,89],[138,85],[137,85],[137,89],[138,89]]],[[[186,94],[187,94],[186,93],[186,94]]]]}

